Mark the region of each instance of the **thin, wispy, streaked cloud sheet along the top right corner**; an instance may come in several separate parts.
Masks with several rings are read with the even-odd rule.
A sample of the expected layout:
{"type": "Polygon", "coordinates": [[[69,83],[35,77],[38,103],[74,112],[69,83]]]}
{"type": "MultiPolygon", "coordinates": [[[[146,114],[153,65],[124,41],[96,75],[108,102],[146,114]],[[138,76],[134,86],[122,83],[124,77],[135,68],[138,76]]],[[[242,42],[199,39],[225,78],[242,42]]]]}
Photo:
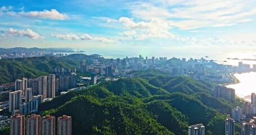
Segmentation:
{"type": "Polygon", "coordinates": [[[253,21],[256,15],[255,7],[255,0],[159,0],[151,1],[151,4],[129,4],[129,10],[138,19],[165,20],[169,22],[169,26],[180,29],[232,26],[253,21]]]}

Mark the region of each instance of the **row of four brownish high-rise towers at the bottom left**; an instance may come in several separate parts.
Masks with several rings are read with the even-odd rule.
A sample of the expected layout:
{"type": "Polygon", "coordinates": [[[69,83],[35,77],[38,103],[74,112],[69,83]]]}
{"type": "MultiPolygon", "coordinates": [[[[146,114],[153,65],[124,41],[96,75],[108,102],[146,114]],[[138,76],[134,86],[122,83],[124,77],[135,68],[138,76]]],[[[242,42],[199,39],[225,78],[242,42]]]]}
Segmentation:
{"type": "MultiPolygon", "coordinates": [[[[11,116],[11,135],[55,135],[55,116],[32,114],[25,115],[16,113],[11,116]]],[[[57,134],[71,135],[71,116],[63,115],[57,120],[57,134]]]]}

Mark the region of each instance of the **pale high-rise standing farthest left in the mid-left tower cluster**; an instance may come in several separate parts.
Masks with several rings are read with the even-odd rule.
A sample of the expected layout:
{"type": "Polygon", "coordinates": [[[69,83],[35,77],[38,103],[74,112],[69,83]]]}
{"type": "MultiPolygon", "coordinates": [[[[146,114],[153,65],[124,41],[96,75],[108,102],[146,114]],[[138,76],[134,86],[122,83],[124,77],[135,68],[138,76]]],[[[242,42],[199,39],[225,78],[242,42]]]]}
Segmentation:
{"type": "Polygon", "coordinates": [[[14,115],[20,109],[22,103],[22,91],[14,91],[9,93],[9,112],[14,115]]]}

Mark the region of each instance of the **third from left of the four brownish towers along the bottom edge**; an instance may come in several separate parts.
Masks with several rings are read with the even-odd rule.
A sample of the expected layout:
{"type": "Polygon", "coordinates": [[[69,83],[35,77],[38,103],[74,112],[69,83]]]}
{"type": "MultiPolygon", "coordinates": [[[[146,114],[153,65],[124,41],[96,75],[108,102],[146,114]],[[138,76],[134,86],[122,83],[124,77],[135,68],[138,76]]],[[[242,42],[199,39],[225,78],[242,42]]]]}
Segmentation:
{"type": "Polygon", "coordinates": [[[42,117],[41,135],[55,135],[55,116],[46,115],[42,117]]]}

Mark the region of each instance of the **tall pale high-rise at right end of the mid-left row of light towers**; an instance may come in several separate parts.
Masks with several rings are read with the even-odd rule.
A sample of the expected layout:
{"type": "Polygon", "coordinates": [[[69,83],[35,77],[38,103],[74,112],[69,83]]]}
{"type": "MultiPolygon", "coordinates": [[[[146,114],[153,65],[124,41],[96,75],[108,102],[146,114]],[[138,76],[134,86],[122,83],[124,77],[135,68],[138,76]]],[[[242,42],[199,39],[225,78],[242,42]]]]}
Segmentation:
{"type": "Polygon", "coordinates": [[[47,98],[55,97],[55,74],[50,74],[47,78],[47,98]]]}

